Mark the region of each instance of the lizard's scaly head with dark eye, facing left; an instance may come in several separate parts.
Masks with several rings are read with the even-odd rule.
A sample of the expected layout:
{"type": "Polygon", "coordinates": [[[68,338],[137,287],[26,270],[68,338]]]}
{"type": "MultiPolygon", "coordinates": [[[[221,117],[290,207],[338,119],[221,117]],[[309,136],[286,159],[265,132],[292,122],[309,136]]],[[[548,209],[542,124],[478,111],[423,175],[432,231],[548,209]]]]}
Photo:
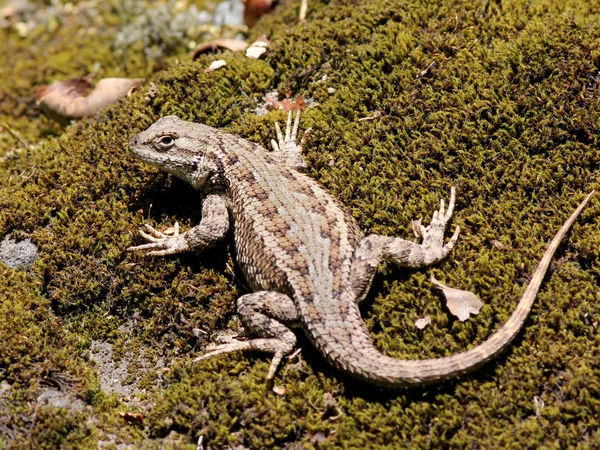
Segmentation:
{"type": "Polygon", "coordinates": [[[206,126],[186,122],[177,116],[166,116],[136,134],[129,148],[140,161],[181,178],[198,189],[211,173],[205,158],[210,144],[206,137],[210,134],[203,133],[203,127],[206,126]]]}

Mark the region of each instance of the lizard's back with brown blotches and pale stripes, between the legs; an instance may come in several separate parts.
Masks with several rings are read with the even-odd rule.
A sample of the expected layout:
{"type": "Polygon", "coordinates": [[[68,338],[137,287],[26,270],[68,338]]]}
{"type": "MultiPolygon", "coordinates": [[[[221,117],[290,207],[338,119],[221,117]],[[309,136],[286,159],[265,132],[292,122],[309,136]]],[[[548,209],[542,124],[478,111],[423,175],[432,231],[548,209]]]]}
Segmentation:
{"type": "Polygon", "coordinates": [[[298,306],[338,299],[363,237],[356,221],[316,181],[240,139],[223,155],[238,262],[253,290],[298,306]]]}

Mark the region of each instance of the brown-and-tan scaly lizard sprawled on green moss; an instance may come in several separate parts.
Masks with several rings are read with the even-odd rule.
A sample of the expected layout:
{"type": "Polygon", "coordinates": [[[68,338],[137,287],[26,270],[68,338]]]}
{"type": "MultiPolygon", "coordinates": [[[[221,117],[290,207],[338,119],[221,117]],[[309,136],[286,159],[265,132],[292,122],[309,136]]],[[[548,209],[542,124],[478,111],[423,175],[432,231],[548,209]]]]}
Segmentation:
{"type": "MultiPolygon", "coordinates": [[[[233,227],[237,263],[251,293],[237,300],[237,314],[256,335],[216,345],[195,358],[254,350],[272,354],[267,380],[296,345],[293,327],[336,369],[384,387],[418,386],[469,372],[502,352],[522,328],[551,258],[593,192],[554,237],[516,309],[483,343],[451,356],[396,359],[377,350],[359,303],[366,297],[382,260],[421,268],[442,260],[455,246],[460,228],[444,243],[456,190],[446,208],[440,201],[431,223],[413,222],[421,243],[376,234],[365,236],[334,196],[304,172],[302,141],[296,142],[300,113],[285,135],[276,123],[272,152],[257,143],[204,124],[166,116],[135,135],[130,150],[140,161],[176,176],[200,191],[200,224],[164,234],[148,224],[148,242],[129,247],[145,255],[200,251],[221,241],[233,227]]],[[[308,130],[307,130],[308,131],[308,130]]]]}

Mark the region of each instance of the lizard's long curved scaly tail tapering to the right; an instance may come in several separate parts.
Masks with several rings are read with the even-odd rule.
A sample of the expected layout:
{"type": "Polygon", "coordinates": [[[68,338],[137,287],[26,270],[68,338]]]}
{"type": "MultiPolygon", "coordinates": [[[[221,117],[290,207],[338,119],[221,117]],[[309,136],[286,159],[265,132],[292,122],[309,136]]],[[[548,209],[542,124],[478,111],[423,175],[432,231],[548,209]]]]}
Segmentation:
{"type": "MultiPolygon", "coordinates": [[[[554,236],[535,269],[523,297],[507,322],[478,346],[443,358],[425,360],[390,358],[374,347],[369,332],[360,318],[358,308],[352,306],[347,306],[344,311],[345,326],[337,327],[333,333],[326,333],[326,335],[320,334],[316,329],[309,329],[312,340],[338,369],[365,381],[387,387],[435,383],[479,367],[501,353],[522,328],[556,249],[593,194],[594,191],[581,202],[554,236]]],[[[326,318],[324,320],[327,321],[326,318]]]]}

